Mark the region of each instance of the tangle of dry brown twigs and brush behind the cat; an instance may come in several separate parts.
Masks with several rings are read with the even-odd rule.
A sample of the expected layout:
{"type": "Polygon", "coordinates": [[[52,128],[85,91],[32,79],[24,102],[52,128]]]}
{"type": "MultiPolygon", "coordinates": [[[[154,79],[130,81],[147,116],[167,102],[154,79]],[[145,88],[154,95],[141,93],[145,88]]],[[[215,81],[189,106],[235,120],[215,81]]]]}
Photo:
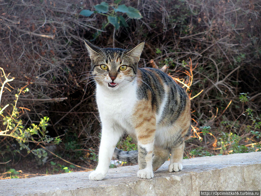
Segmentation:
{"type": "MultiPolygon", "coordinates": [[[[79,12],[94,10],[93,6],[99,3],[0,1],[0,66],[6,75],[10,73],[9,78],[14,77],[6,86],[9,90],[4,89],[1,108],[13,103],[17,89],[28,84],[29,91],[21,93],[17,102],[24,126],[37,124],[48,116],[48,135],[61,138],[55,153],[87,168],[96,164],[95,158],[90,158],[98,152],[100,126],[93,83],[86,86],[88,80],[83,75],[90,70],[83,38],[92,40],[106,16],[94,13],[84,17],[79,12]]],[[[191,78],[184,72],[189,71],[190,58],[192,67],[196,66],[188,93],[193,97],[204,91],[191,100],[192,125],[198,135],[193,131],[184,156],[258,150],[260,137],[251,134],[251,130],[260,132],[256,126],[260,121],[257,117],[260,118],[261,96],[260,1],[124,0],[120,4],[123,3],[137,8],[142,18],[130,19],[123,14],[128,27],[116,30],[114,42],[117,48],[130,49],[145,41],[139,67],[150,67],[153,59],[159,67],[167,64],[170,75],[187,82],[191,78]],[[240,93],[248,93],[248,101],[242,103],[240,93]],[[251,114],[245,112],[247,108],[253,110],[251,114]]],[[[113,30],[109,24],[91,42],[112,47],[113,30]]],[[[6,108],[6,112],[11,109],[6,108]]],[[[5,130],[2,122],[0,117],[0,130],[5,130]]],[[[37,143],[29,146],[39,148],[37,143]]],[[[12,137],[0,136],[0,150],[0,162],[11,160],[0,164],[0,172],[15,167],[21,158],[33,159],[19,150],[12,137]]]]}

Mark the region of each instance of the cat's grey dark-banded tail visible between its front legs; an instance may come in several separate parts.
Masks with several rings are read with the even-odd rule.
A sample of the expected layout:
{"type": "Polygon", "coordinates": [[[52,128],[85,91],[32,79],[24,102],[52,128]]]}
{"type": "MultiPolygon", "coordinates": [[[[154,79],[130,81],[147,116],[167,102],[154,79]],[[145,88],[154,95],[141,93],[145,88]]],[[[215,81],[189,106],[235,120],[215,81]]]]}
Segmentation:
{"type": "Polygon", "coordinates": [[[128,163],[138,163],[138,151],[123,151],[115,148],[113,157],[119,161],[124,161],[128,163]]]}

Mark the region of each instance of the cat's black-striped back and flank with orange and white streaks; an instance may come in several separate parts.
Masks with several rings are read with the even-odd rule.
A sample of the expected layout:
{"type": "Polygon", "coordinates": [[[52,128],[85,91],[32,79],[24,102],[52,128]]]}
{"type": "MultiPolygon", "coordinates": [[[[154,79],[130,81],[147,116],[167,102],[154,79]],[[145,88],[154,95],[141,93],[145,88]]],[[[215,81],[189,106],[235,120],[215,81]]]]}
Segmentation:
{"type": "Polygon", "coordinates": [[[138,99],[150,100],[157,123],[172,124],[189,113],[189,96],[169,75],[153,68],[140,68],[137,76],[138,99]]]}

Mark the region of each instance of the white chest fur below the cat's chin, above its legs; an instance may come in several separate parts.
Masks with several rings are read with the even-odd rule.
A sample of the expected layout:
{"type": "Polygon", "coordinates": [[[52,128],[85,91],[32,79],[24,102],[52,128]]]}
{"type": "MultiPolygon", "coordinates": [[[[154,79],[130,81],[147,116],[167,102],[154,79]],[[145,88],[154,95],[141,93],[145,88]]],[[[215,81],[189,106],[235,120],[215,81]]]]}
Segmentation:
{"type": "Polygon", "coordinates": [[[119,125],[127,132],[133,131],[131,115],[137,102],[135,84],[116,91],[97,85],[96,101],[102,125],[119,125]]]}

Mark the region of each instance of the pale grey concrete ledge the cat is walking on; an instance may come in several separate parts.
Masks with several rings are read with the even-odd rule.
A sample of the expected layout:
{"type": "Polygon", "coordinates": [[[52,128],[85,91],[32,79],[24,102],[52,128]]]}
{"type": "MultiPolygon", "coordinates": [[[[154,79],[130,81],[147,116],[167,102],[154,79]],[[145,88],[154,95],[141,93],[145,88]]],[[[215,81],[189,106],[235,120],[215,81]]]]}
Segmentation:
{"type": "Polygon", "coordinates": [[[154,178],[139,179],[138,166],[110,169],[102,181],[90,172],[0,180],[0,195],[199,195],[200,190],[261,190],[261,152],[183,160],[169,173],[168,161],[154,178]]]}

